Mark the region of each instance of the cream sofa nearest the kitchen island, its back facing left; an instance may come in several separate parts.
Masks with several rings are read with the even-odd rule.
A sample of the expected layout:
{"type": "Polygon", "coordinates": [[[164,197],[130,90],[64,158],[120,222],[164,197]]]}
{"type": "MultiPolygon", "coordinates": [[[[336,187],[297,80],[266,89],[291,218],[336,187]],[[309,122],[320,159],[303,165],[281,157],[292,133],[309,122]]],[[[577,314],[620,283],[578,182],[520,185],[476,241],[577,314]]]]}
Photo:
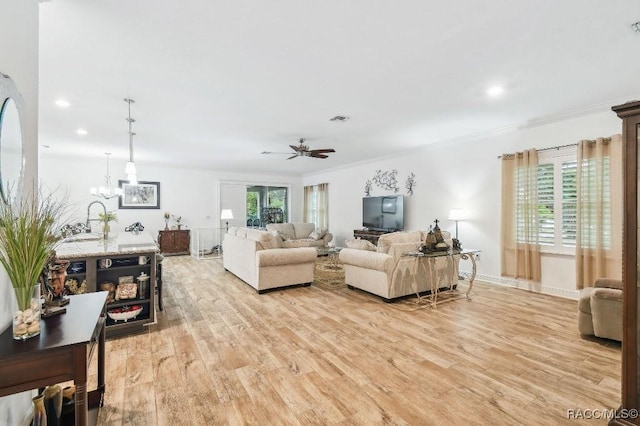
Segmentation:
{"type": "Polygon", "coordinates": [[[222,242],[225,270],[258,293],[292,285],[311,285],[317,258],[315,248],[281,248],[268,231],[229,228],[222,242]]]}

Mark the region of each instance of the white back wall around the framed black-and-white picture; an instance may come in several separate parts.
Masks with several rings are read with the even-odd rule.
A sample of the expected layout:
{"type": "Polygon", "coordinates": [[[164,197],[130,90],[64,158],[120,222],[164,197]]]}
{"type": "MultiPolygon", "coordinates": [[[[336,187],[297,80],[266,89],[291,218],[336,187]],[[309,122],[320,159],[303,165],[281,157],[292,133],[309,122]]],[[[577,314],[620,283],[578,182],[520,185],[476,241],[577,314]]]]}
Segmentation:
{"type": "MultiPolygon", "coordinates": [[[[111,178],[117,186],[118,179],[125,179],[125,162],[111,160],[109,168],[111,178]]],[[[87,218],[87,206],[91,201],[102,201],[107,210],[113,210],[118,222],[111,224],[111,232],[124,232],[124,228],[134,222],[141,222],[145,231],[155,237],[158,230],[164,229],[164,213],[182,216],[185,229],[219,228],[221,226],[219,211],[219,187],[221,182],[244,182],[247,184],[282,184],[291,185],[292,218],[302,217],[302,178],[278,175],[219,173],[213,170],[190,168],[171,168],[145,164],[144,159],[136,159],[138,179],[160,183],[160,209],[118,209],[118,199],[103,200],[89,194],[91,186],[104,182],[106,158],[83,159],[78,161],[65,157],[47,155],[46,150],[40,155],[40,179],[46,188],[55,191],[57,196],[68,195],[72,206],[69,221],[84,223],[87,218]]],[[[99,206],[91,208],[91,217],[97,217],[99,206]]],[[[238,218],[238,224],[245,223],[238,218]]],[[[231,221],[233,225],[235,222],[231,221]]],[[[93,223],[94,230],[98,230],[93,223]]]]}

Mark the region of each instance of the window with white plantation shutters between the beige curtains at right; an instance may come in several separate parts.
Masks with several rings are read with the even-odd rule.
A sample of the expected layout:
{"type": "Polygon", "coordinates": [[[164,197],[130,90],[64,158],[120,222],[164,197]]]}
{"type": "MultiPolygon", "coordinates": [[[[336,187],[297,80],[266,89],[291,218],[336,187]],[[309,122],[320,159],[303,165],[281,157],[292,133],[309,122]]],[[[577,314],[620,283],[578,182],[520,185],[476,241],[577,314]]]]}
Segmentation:
{"type": "MultiPolygon", "coordinates": [[[[535,199],[526,200],[524,191],[524,180],[527,178],[526,170],[516,172],[516,238],[518,242],[529,242],[540,244],[543,252],[549,253],[574,253],[577,234],[578,215],[578,192],[577,192],[577,153],[575,147],[561,150],[540,152],[535,178],[537,184],[537,194],[535,199]],[[538,213],[537,241],[524,240],[524,217],[529,209],[536,209],[538,213]]],[[[582,171],[587,169],[592,171],[596,167],[596,161],[604,161],[603,176],[605,183],[609,180],[609,159],[604,160],[589,159],[584,160],[582,171]]],[[[583,173],[583,176],[585,174],[583,173]]],[[[594,173],[588,173],[593,176],[594,173]]],[[[595,177],[588,179],[594,180],[595,177]]],[[[590,188],[595,182],[583,182],[583,194],[581,195],[583,215],[596,214],[596,197],[590,188]]],[[[605,185],[605,192],[602,194],[602,202],[605,206],[605,235],[603,245],[608,248],[611,244],[611,206],[609,186],[605,185]]],[[[583,216],[584,217],[584,216],[583,216]]],[[[597,235],[584,235],[589,233],[589,229],[583,230],[583,245],[587,247],[595,245],[597,235]],[[593,243],[592,243],[593,242],[593,243]]]]}

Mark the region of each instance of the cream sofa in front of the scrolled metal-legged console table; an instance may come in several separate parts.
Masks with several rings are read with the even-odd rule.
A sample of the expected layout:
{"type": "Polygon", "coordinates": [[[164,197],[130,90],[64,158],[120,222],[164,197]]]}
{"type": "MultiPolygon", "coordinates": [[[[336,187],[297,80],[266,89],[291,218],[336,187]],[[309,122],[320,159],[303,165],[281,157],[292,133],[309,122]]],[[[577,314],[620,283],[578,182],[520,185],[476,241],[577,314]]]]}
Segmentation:
{"type": "MultiPolygon", "coordinates": [[[[442,231],[445,242],[451,247],[451,234],[442,231]]],[[[403,256],[417,250],[425,241],[426,232],[393,232],[378,239],[378,245],[367,244],[360,248],[344,248],[340,261],[344,265],[345,282],[351,289],[358,288],[382,297],[386,302],[394,299],[431,291],[432,279],[439,274],[439,288],[449,288],[458,282],[460,255],[442,256],[434,259],[434,273],[430,273],[430,260],[403,256]],[[415,262],[420,262],[418,265],[415,262]],[[417,266],[417,267],[416,267],[417,266]],[[414,269],[416,268],[416,269],[414,269]],[[415,271],[415,288],[414,288],[415,271]]]]}

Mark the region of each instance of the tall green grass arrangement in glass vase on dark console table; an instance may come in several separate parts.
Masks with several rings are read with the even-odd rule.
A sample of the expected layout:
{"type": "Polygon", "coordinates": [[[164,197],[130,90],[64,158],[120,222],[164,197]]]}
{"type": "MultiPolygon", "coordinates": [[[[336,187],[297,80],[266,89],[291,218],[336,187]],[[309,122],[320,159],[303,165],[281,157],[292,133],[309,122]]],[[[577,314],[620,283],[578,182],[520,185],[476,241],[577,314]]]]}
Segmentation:
{"type": "Polygon", "coordinates": [[[66,201],[32,191],[0,201],[0,263],[7,271],[16,309],[13,337],[25,340],[40,334],[40,284],[38,278],[62,240],[59,221],[66,201]]]}

